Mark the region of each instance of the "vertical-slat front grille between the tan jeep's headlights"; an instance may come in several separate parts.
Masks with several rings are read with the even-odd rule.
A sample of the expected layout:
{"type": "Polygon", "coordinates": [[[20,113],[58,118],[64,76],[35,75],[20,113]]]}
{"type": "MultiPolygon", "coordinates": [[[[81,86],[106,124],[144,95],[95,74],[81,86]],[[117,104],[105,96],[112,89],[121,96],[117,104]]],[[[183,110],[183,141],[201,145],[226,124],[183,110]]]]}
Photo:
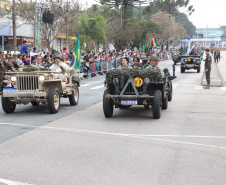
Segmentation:
{"type": "Polygon", "coordinates": [[[38,76],[19,76],[17,77],[18,89],[22,91],[37,90],[38,76]]]}

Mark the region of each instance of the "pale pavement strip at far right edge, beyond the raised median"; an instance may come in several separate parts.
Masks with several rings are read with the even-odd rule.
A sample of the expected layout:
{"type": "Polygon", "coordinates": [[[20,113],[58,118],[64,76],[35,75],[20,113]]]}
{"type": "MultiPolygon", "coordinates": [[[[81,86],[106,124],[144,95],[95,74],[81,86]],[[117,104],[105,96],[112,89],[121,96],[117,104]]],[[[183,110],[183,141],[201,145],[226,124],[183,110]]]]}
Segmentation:
{"type": "Polygon", "coordinates": [[[221,60],[217,64],[219,74],[222,80],[222,86],[226,86],[226,51],[221,51],[221,60]]]}

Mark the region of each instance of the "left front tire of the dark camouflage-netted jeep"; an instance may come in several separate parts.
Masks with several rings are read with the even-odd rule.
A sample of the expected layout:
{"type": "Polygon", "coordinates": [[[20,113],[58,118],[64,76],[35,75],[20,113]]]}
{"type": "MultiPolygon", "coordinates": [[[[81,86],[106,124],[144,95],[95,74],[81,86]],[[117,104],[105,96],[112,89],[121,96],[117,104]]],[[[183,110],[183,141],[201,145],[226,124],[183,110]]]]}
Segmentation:
{"type": "Polygon", "coordinates": [[[108,100],[106,98],[107,94],[110,94],[108,89],[104,91],[103,95],[103,111],[106,118],[111,118],[113,116],[114,103],[112,102],[112,100],[108,100]]]}

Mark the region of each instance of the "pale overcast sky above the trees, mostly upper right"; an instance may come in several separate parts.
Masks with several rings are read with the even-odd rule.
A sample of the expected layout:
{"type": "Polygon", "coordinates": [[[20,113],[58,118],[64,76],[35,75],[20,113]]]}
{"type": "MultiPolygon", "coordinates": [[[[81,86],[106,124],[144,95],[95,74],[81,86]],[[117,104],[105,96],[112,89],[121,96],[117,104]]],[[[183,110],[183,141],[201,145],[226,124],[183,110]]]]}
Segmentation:
{"type": "MultiPolygon", "coordinates": [[[[95,0],[80,0],[82,4],[91,6],[96,4],[95,0]]],[[[226,0],[190,0],[195,12],[189,16],[189,20],[197,28],[219,28],[226,26],[226,0]]],[[[184,11],[185,9],[182,9],[184,11]]]]}

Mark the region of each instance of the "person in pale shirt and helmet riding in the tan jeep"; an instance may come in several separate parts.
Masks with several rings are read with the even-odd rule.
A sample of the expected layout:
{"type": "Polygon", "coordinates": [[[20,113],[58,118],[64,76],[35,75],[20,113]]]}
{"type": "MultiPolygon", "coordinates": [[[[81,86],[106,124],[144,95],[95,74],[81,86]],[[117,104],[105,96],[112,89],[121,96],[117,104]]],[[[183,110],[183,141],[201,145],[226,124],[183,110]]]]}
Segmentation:
{"type": "Polygon", "coordinates": [[[63,72],[65,73],[67,70],[69,70],[69,66],[62,62],[62,56],[59,54],[54,55],[54,64],[50,66],[51,71],[56,72],[63,72]]]}

